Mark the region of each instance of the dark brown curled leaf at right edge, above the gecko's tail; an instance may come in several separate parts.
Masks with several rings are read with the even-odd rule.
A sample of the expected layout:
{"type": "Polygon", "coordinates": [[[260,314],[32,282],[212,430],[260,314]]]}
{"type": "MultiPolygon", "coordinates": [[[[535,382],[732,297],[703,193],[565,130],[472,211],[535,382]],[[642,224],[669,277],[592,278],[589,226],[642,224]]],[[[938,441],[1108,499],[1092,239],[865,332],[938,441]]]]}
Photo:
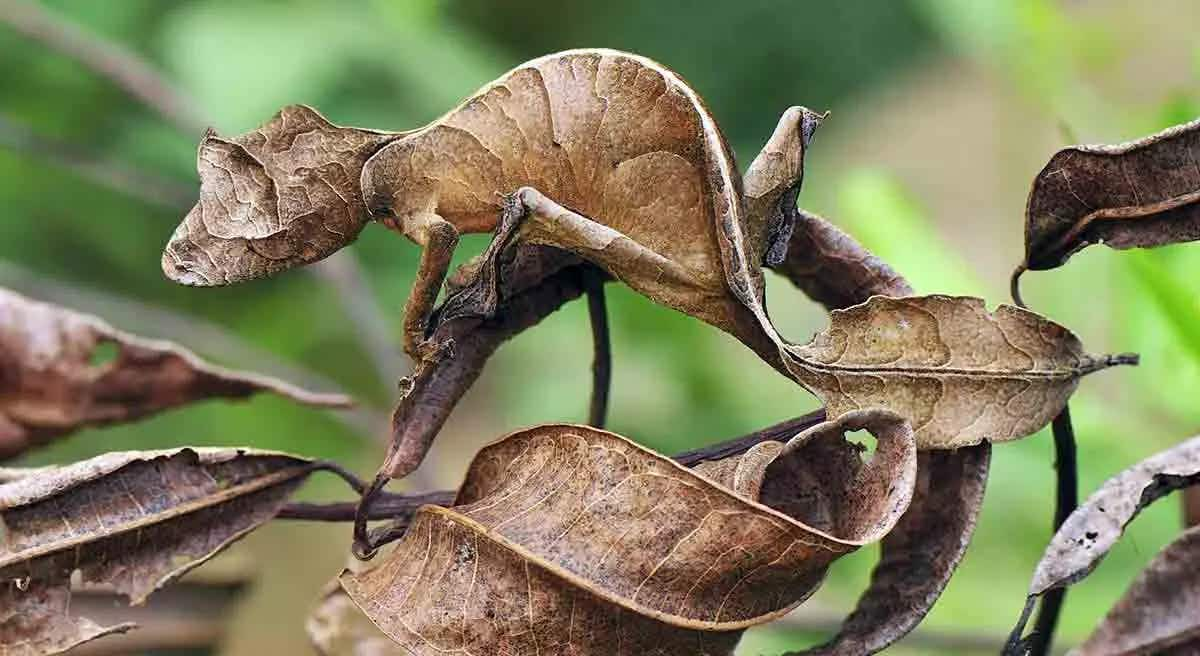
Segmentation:
{"type": "Polygon", "coordinates": [[[1090,243],[1135,248],[1200,239],[1198,145],[1200,121],[1193,121],[1128,144],[1055,154],[1030,192],[1021,269],[1061,266],[1090,243]]]}

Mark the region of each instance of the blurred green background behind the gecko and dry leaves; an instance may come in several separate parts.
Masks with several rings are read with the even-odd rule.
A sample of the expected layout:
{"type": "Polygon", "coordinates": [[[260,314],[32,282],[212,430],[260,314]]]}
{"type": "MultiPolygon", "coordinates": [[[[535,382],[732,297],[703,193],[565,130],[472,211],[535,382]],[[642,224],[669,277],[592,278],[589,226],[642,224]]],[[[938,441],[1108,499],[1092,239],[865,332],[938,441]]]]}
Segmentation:
{"type": "MultiPolygon", "coordinates": [[[[1055,150],[1122,142],[1200,114],[1200,5],[1192,0],[46,6],[146,58],[222,133],[250,130],[298,102],[342,124],[412,128],[526,59],[589,46],[637,52],[680,72],[708,101],[743,163],[787,106],[832,109],[811,151],[802,205],[858,236],[919,293],[974,294],[992,305],[1007,300],[1008,272],[1021,258],[1028,183],[1055,150]]],[[[380,380],[337,293],[320,279],[290,272],[186,289],[163,278],[161,248],[186,210],[173,206],[172,193],[197,188],[198,132],[176,130],[108,80],[2,25],[0,119],[0,284],[170,337],[226,363],[275,373],[300,368],[388,409],[394,385],[380,380]],[[36,143],[30,131],[70,148],[36,143]],[[89,157],[98,157],[90,171],[61,162],[89,157]],[[122,167],[154,176],[133,186],[168,198],[148,203],[96,182],[128,182],[122,167]]],[[[484,243],[468,240],[469,248],[484,243]]],[[[416,247],[371,227],[353,255],[398,342],[416,247]]],[[[1025,277],[1030,306],[1070,326],[1090,350],[1144,356],[1135,369],[1088,378],[1073,402],[1085,494],[1200,423],[1198,267],[1196,246],[1126,253],[1097,247],[1062,270],[1025,277]]],[[[768,303],[793,341],[806,341],[824,324],[822,311],[786,281],[769,282],[768,303]]],[[[816,407],[697,321],[616,285],[610,312],[611,427],[638,441],[672,452],[816,407]]],[[[515,427],[582,420],[589,349],[582,303],[502,348],[456,410],[419,485],[455,485],[479,445],[515,427]]],[[[403,363],[385,367],[400,371],[403,363]]],[[[84,432],[26,461],[248,444],[340,458],[365,474],[382,455],[371,433],[264,397],[84,432]]],[[[988,639],[1012,626],[1049,538],[1051,463],[1048,432],[995,450],[978,532],[923,626],[926,633],[988,639]]],[[[344,492],[318,481],[305,495],[344,492]]],[[[1073,589],[1064,642],[1086,636],[1178,530],[1178,516],[1170,501],[1144,513],[1073,589]]],[[[348,526],[294,523],[252,536],[260,577],[222,652],[306,652],[304,616],[322,583],[338,572],[348,537],[348,526]]],[[[874,556],[864,549],[839,561],[797,621],[820,624],[848,610],[874,556]]],[[[762,627],[748,633],[742,652],[778,654],[823,637],[762,627]]],[[[912,638],[894,652],[964,649],[938,651],[912,638]]]]}

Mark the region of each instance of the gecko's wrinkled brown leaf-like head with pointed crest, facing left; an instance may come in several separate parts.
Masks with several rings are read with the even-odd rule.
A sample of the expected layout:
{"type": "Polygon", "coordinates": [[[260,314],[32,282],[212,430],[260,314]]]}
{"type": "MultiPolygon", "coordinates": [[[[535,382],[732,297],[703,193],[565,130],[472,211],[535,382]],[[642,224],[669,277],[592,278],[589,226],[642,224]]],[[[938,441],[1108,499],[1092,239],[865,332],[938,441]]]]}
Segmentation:
{"type": "Polygon", "coordinates": [[[336,126],[305,106],[238,137],[208,131],[196,163],[200,197],[163,251],[163,273],[181,284],[229,284],[348,246],[367,223],[362,165],[397,137],[336,126]]]}

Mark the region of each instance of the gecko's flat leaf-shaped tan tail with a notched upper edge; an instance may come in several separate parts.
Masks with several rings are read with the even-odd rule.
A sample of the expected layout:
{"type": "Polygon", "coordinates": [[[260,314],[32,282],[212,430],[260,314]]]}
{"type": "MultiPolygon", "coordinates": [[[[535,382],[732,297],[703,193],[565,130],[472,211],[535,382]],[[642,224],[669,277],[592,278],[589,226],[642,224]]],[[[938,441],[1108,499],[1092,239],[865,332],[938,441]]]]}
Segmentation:
{"type": "Polygon", "coordinates": [[[785,347],[787,366],[830,417],[887,408],[918,449],[956,449],[1037,432],[1079,378],[1135,356],[1091,356],[1067,329],[967,296],[875,296],[830,313],[827,330],[785,347]]]}

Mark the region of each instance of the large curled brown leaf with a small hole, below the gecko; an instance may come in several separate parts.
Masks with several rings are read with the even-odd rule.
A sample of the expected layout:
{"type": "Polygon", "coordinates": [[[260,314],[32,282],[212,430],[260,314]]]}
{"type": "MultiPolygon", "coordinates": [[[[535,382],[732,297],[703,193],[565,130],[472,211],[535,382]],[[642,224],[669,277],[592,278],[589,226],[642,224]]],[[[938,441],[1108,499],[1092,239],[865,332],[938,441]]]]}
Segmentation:
{"type": "Polygon", "coordinates": [[[342,585],[414,654],[731,654],[742,628],[884,535],[914,476],[911,431],[878,410],[700,473],[544,426],[484,449],[454,507],[422,507],[384,562],[342,585]],[[878,438],[866,464],[842,438],[863,428],[878,438]]]}

